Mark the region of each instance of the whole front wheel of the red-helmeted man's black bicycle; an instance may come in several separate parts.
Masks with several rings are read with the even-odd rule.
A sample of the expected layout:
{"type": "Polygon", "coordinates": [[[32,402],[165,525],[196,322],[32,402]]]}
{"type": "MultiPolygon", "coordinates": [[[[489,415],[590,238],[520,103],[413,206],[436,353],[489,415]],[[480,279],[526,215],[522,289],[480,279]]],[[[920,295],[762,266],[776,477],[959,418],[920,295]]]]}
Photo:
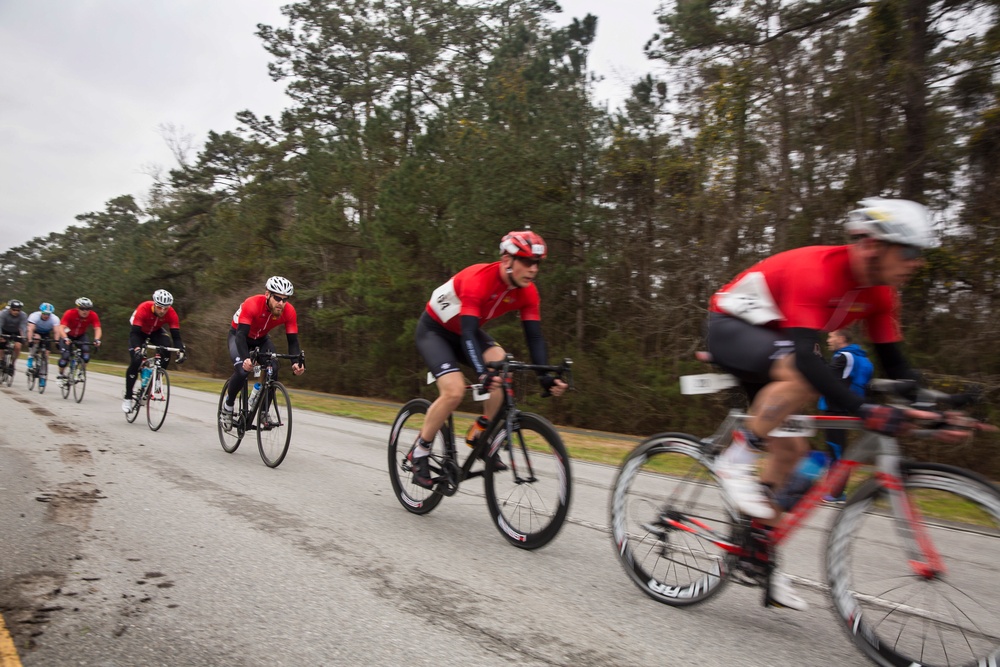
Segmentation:
{"type": "Polygon", "coordinates": [[[509,443],[506,427],[490,443],[508,469],[494,470],[492,456],[486,457],[486,504],[508,542],[537,549],[552,541],[566,521],[573,488],[569,454],[543,417],[522,412],[515,428],[509,443]]]}

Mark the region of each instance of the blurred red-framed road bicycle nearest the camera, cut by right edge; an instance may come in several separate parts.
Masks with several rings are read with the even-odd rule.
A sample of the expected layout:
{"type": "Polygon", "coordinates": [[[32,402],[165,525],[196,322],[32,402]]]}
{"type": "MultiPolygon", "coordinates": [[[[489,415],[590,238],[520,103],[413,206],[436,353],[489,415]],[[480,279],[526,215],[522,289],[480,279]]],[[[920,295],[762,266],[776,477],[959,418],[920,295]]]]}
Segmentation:
{"type": "MultiPolygon", "coordinates": [[[[908,393],[903,383],[875,385],[908,393]]],[[[950,401],[929,390],[910,396],[920,409],[950,401]]],[[[874,461],[874,474],[850,495],[827,535],[825,573],[842,627],[879,665],[1000,664],[1000,490],[993,483],[954,466],[911,461],[895,438],[864,431],[767,530],[739,513],[714,472],[717,454],[747,418],[730,412],[708,438],[654,435],[622,463],[612,487],[612,539],[646,595],[684,607],[729,580],[767,591],[775,546],[861,462],[874,461]]],[[[863,430],[856,417],[796,416],[781,435],[809,436],[817,427],[863,430]]]]}

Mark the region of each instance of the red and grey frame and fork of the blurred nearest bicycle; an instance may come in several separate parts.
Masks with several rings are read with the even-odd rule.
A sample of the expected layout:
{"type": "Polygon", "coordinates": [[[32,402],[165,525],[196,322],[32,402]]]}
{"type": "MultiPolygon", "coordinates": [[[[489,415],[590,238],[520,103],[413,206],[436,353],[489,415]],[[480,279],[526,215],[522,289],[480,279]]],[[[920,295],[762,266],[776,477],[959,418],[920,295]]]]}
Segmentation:
{"type": "MultiPolygon", "coordinates": [[[[741,411],[731,411],[719,429],[703,442],[713,444],[715,453],[722,451],[732,440],[732,434],[736,427],[749,418],[749,415],[741,411]]],[[[786,432],[802,432],[815,428],[864,430],[860,418],[835,415],[794,415],[782,425],[782,429],[786,432]]],[[[851,472],[862,465],[863,461],[869,460],[874,461],[875,475],[889,492],[893,517],[909,553],[910,567],[914,573],[923,578],[933,578],[943,574],[944,565],[921,522],[920,511],[903,491],[901,454],[898,442],[895,438],[871,431],[864,431],[862,437],[848,447],[844,456],[827,471],[823,478],[813,484],[794,506],[781,515],[778,523],[768,531],[765,540],[767,545],[775,547],[788,539],[821,504],[824,495],[830,494],[835,488],[842,488],[841,485],[851,472]]],[[[745,545],[735,544],[719,537],[708,526],[695,523],[693,519],[689,519],[689,521],[695,523],[694,528],[673,518],[665,518],[664,521],[679,530],[699,534],[720,549],[739,557],[756,557],[758,555],[748,552],[745,545]]]]}

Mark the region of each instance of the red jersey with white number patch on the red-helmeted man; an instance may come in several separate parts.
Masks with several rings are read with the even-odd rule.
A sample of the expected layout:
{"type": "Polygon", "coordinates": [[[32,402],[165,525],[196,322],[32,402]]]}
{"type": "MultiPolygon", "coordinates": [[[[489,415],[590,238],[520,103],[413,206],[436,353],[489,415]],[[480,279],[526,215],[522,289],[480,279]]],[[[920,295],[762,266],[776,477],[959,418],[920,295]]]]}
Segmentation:
{"type": "Polygon", "coordinates": [[[441,285],[427,302],[427,313],[444,328],[462,333],[460,315],[479,318],[479,326],[512,310],[522,320],[541,320],[541,300],[534,283],[510,287],[500,277],[500,262],[473,264],[441,285]]]}

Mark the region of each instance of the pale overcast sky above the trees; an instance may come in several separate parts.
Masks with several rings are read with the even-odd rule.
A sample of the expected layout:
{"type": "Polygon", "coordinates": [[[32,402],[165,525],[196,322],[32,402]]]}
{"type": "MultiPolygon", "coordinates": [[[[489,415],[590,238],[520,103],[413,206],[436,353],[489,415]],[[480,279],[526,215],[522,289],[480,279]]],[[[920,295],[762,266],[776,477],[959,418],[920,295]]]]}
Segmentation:
{"type": "MultiPolygon", "coordinates": [[[[289,106],[267,75],[258,23],[282,0],[0,0],[0,252],[75,223],[176,165],[164,127],[193,135],[249,109],[289,106]]],[[[562,0],[566,23],[598,17],[590,67],[617,106],[653,70],[642,46],[660,0],[562,0]]],[[[193,157],[193,153],[192,153],[193,157]]]]}

